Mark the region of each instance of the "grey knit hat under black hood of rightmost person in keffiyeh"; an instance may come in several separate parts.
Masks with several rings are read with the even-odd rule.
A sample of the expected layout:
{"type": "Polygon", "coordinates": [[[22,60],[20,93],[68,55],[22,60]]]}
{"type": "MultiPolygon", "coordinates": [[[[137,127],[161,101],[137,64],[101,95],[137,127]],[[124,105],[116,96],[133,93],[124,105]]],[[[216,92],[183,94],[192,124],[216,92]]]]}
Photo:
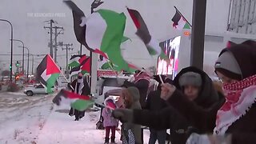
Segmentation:
{"type": "Polygon", "coordinates": [[[226,77],[233,79],[240,79],[242,77],[242,71],[240,70],[237,60],[228,50],[218,57],[214,67],[215,70],[226,75],[226,77]]]}

